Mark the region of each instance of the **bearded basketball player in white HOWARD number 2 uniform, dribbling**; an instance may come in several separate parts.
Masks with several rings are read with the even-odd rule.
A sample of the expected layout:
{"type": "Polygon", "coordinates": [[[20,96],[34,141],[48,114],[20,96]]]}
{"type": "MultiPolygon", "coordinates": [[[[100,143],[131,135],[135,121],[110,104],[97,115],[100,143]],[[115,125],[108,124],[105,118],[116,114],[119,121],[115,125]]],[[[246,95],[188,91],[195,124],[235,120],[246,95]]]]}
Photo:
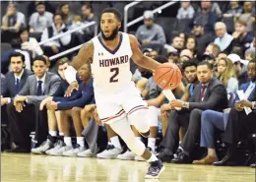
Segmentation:
{"type": "MultiPolygon", "coordinates": [[[[100,35],[85,43],[72,66],[77,70],[90,62],[95,79],[96,108],[103,124],[108,124],[137,155],[144,157],[150,167],[145,178],[158,178],[164,166],[158,157],[137,140],[130,123],[145,137],[150,134],[148,106],[132,82],[130,58],[144,68],[155,71],[160,63],[144,56],[137,38],[118,31],[121,15],[106,8],[100,17],[100,35]],[[130,123],[129,123],[130,122],[130,123]]],[[[77,83],[72,84],[77,87],[77,83]]]]}

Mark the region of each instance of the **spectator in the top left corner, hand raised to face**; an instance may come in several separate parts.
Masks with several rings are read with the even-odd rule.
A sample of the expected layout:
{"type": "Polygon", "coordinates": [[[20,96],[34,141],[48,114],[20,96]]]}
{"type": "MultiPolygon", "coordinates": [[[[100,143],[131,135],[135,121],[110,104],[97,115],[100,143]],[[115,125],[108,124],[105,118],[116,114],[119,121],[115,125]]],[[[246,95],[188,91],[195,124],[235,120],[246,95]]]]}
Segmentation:
{"type": "Polygon", "coordinates": [[[12,39],[19,36],[19,30],[26,27],[25,15],[16,10],[14,2],[9,3],[6,14],[2,19],[2,24],[2,42],[11,42],[12,39]]]}

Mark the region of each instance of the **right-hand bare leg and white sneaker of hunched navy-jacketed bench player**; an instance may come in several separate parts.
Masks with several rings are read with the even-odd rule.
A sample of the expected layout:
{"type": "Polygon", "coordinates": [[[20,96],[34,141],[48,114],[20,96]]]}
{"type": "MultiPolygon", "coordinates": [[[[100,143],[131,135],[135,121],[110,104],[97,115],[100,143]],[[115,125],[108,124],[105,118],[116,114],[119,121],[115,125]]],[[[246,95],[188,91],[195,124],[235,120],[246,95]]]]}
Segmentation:
{"type": "Polygon", "coordinates": [[[79,152],[84,152],[87,150],[85,147],[85,138],[82,135],[82,132],[83,132],[83,125],[81,120],[82,110],[83,108],[81,107],[72,108],[71,114],[72,114],[72,120],[73,120],[76,136],[77,136],[77,145],[75,146],[74,149],[63,152],[62,154],[65,156],[77,156],[79,152]]]}

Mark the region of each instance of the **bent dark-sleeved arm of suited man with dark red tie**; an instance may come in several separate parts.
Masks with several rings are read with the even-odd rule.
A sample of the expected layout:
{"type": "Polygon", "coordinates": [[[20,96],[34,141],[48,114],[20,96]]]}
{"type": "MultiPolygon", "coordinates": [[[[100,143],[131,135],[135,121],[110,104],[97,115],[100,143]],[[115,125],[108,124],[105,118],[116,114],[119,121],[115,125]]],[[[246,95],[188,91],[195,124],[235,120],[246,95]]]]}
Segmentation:
{"type": "Polygon", "coordinates": [[[188,102],[188,108],[193,110],[195,108],[206,110],[214,109],[222,99],[226,99],[226,91],[223,85],[217,86],[214,91],[212,91],[209,99],[203,102],[188,102]]]}

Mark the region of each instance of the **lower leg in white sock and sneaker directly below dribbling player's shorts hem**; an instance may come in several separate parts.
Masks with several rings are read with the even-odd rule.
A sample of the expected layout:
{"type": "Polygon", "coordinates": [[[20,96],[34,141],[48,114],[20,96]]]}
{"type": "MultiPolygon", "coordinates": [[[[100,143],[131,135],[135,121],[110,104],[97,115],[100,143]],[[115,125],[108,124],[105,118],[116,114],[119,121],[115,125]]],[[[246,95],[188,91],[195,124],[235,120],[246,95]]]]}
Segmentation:
{"type": "Polygon", "coordinates": [[[106,149],[103,152],[97,153],[96,157],[98,158],[116,158],[118,154],[123,152],[119,138],[117,134],[109,127],[105,125],[108,144],[106,149]]]}

